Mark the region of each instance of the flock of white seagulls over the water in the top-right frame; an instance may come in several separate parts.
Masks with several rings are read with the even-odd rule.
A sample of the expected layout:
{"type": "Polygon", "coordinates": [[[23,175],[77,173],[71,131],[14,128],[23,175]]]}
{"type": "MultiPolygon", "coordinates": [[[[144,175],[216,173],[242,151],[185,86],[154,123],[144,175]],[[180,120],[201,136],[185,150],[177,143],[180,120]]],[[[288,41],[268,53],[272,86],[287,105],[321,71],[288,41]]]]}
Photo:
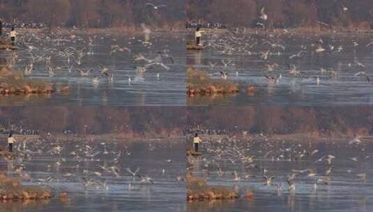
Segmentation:
{"type": "MultiPolygon", "coordinates": [[[[262,18],[266,18],[264,9],[262,18]]],[[[213,73],[220,75],[222,79],[238,77],[242,73],[248,73],[250,67],[263,64],[262,72],[258,77],[264,77],[268,84],[277,84],[282,77],[291,79],[291,83],[322,84],[324,80],[338,78],[352,78],[356,81],[370,82],[370,67],[367,63],[359,61],[357,51],[370,52],[370,43],[359,43],[358,38],[340,38],[330,35],[330,39],[317,35],[298,35],[294,33],[245,33],[227,31],[227,33],[206,34],[206,49],[217,54],[220,61],[207,59],[208,67],[213,73]],[[297,45],[287,43],[303,38],[297,45]],[[361,49],[363,48],[363,50],[361,49]],[[344,58],[347,51],[351,59],[344,58]],[[302,68],[303,61],[307,58],[330,56],[336,60],[333,67],[319,67],[319,69],[302,68]],[[340,59],[338,59],[340,58],[340,59]],[[252,64],[250,64],[252,63],[252,64]]],[[[257,70],[255,70],[257,71],[257,70]]],[[[248,79],[250,80],[250,79],[248,79]]]]}

